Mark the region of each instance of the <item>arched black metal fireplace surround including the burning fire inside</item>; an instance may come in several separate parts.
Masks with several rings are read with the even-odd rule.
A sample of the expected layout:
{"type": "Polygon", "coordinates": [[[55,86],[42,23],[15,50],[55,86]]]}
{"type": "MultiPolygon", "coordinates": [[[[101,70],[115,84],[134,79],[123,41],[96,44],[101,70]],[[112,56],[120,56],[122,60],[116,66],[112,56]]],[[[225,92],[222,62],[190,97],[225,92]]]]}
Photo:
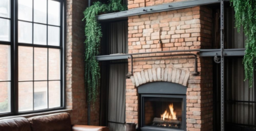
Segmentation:
{"type": "Polygon", "coordinates": [[[142,84],[139,93],[141,131],[186,130],[186,86],[156,82],[142,84]]]}

